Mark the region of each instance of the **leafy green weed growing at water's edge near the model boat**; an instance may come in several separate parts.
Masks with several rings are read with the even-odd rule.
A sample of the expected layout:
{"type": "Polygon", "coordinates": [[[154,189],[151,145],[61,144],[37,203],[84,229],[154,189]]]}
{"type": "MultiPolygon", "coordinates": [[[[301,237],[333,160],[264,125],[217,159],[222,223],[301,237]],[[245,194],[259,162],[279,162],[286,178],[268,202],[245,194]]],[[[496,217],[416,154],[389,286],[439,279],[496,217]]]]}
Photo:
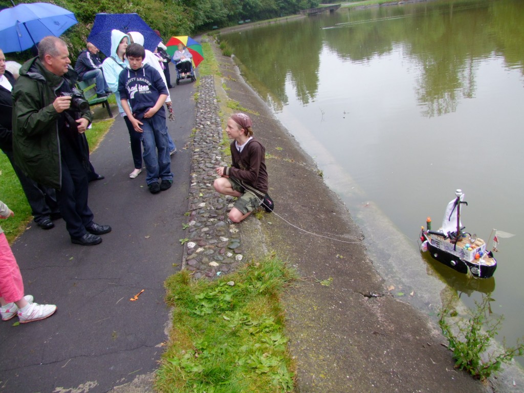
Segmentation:
{"type": "Polygon", "coordinates": [[[455,368],[466,370],[474,378],[486,381],[492,374],[497,373],[503,363],[509,363],[514,356],[524,354],[524,337],[517,340],[515,347],[506,347],[495,353],[490,351],[490,342],[498,334],[504,319],[495,318],[490,311],[490,302],[494,301],[491,294],[483,297],[482,302],[476,304],[476,309],[468,311],[466,318],[455,318],[457,312],[451,307],[451,302],[440,311],[439,325],[444,337],[453,351],[455,368]],[[451,319],[453,322],[450,322],[451,319]]]}

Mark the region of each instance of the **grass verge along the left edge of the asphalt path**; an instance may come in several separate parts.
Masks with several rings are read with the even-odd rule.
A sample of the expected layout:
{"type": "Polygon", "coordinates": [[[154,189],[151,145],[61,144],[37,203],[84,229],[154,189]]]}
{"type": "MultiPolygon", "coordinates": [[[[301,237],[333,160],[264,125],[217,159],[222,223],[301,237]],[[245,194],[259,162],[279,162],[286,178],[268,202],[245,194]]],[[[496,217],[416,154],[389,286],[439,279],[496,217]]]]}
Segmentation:
{"type": "MultiPolygon", "coordinates": [[[[94,151],[107,133],[114,119],[94,122],[85,135],[91,151],[94,151]]],[[[23,233],[32,220],[31,208],[22,190],[18,177],[5,154],[0,154],[0,195],[1,201],[9,206],[15,215],[8,220],[2,220],[0,225],[5,232],[7,241],[13,241],[23,233]]]]}

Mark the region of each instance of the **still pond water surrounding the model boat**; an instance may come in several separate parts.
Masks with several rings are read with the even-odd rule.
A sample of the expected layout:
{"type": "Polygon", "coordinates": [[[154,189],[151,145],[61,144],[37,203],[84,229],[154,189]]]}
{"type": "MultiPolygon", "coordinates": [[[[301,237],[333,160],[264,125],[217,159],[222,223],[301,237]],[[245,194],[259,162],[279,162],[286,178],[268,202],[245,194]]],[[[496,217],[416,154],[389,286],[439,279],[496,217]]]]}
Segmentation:
{"type": "Polygon", "coordinates": [[[440,307],[435,278],[468,307],[492,292],[508,345],[524,335],[523,38],[520,0],[341,8],[221,36],[363,228],[396,296],[440,307]],[[459,188],[467,232],[516,235],[499,239],[492,279],[419,252],[426,217],[437,229],[459,188]]]}

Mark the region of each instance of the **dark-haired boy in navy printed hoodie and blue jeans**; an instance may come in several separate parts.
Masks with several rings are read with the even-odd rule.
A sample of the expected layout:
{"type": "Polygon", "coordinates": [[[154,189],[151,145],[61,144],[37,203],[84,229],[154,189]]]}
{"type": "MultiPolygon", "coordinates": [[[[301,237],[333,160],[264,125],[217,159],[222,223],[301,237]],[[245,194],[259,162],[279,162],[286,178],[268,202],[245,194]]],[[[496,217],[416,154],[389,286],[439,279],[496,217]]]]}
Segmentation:
{"type": "Polygon", "coordinates": [[[118,93],[127,118],[135,131],[141,134],[146,182],[149,191],[156,194],[169,189],[173,182],[166,111],[163,107],[168,90],[155,68],[148,64],[142,65],[145,56],[144,47],[138,43],[132,43],[126,48],[129,67],[118,77],[118,93]]]}

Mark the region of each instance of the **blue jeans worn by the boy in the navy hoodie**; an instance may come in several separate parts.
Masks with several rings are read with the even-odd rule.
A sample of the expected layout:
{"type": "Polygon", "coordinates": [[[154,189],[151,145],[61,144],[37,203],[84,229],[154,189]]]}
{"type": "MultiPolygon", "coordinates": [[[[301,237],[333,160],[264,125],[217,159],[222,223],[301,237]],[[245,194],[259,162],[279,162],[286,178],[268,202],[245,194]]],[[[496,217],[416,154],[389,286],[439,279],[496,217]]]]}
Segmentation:
{"type": "Polygon", "coordinates": [[[155,115],[147,119],[143,118],[141,122],[144,123],[140,126],[143,129],[140,139],[144,145],[146,183],[158,182],[158,178],[173,180],[166,118],[155,115]]]}

